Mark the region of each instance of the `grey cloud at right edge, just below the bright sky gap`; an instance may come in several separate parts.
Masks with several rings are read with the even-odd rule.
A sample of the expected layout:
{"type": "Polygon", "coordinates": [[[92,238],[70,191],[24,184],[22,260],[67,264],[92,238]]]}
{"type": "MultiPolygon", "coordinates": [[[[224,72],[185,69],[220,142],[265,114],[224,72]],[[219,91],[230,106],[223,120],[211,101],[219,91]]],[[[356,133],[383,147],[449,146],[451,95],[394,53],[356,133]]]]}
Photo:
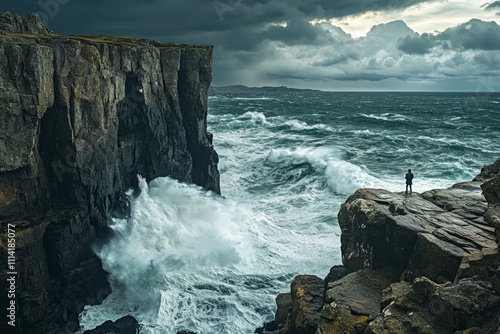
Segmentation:
{"type": "Polygon", "coordinates": [[[500,26],[496,22],[472,19],[437,35],[407,36],[398,49],[408,54],[426,54],[433,47],[453,50],[500,50],[500,26]]]}

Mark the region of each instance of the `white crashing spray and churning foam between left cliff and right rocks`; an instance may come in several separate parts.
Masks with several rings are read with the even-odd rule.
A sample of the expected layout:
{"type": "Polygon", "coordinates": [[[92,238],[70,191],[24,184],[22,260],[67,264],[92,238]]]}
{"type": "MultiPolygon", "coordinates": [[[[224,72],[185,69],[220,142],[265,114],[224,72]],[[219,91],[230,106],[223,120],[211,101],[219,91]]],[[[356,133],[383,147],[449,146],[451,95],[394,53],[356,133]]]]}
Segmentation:
{"type": "Polygon", "coordinates": [[[296,226],[269,203],[252,208],[169,178],[140,187],[131,218],[114,220],[116,235],[97,250],[113,292],[86,307],[82,330],[132,314],[141,334],[246,333],[272,314],[297,262],[315,270],[319,253],[338,247],[336,229],[296,226]]]}

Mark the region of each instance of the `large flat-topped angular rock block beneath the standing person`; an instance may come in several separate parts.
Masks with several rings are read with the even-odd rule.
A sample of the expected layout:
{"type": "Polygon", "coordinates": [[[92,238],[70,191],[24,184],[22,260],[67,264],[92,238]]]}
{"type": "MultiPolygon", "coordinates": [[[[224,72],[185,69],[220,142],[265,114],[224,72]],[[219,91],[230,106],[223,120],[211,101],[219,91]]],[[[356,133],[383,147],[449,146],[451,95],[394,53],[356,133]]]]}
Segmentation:
{"type": "Polygon", "coordinates": [[[481,211],[486,201],[475,183],[411,196],[358,190],[339,212],[344,265],[351,271],[393,266],[407,268],[409,279],[453,280],[464,256],[496,248],[492,227],[478,219],[481,211]]]}

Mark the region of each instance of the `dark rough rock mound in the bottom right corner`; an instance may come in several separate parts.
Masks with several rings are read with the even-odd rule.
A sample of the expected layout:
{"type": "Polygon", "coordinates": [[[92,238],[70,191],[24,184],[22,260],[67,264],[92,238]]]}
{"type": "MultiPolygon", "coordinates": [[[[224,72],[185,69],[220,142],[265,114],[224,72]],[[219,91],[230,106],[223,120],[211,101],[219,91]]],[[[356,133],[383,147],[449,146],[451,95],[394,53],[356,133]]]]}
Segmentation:
{"type": "Polygon", "coordinates": [[[475,281],[440,285],[422,277],[395,283],[384,292],[386,306],[366,333],[455,333],[489,322],[499,302],[500,297],[475,281]]]}

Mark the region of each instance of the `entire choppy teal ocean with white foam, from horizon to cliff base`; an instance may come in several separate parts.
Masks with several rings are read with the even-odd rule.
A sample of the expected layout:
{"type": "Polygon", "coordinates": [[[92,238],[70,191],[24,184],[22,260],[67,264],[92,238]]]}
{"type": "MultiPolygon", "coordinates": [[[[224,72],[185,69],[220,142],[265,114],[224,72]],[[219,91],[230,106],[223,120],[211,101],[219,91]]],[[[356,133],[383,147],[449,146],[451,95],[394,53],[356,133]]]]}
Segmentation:
{"type": "Polygon", "coordinates": [[[500,157],[500,93],[222,93],[209,98],[222,197],[159,178],[96,249],[113,293],[83,329],[253,333],[295,275],[341,264],[337,212],[361,187],[469,181],[500,157]]]}

